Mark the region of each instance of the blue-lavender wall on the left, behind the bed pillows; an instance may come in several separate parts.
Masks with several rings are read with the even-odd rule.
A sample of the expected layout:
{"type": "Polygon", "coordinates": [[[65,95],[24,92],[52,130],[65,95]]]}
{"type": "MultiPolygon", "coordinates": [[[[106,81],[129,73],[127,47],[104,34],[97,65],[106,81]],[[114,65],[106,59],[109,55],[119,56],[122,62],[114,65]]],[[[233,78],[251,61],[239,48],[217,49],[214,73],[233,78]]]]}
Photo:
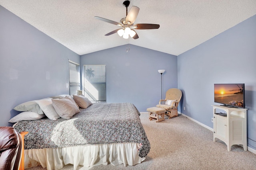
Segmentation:
{"type": "Polygon", "coordinates": [[[0,126],[23,102],[68,94],[68,59],[80,56],[0,6],[0,126]]]}

